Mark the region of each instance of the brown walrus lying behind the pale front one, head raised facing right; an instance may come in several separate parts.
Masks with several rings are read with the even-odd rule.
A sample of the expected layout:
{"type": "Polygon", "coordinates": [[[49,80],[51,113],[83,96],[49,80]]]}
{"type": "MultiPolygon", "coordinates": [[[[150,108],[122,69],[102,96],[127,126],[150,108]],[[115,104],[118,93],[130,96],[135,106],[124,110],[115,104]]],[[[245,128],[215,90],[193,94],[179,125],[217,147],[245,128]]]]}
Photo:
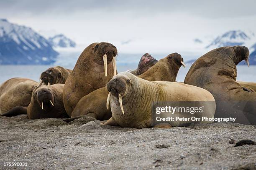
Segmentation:
{"type": "MultiPolygon", "coordinates": [[[[185,66],[181,55],[169,54],[138,77],[149,81],[175,81],[182,65],[185,66]]],[[[102,87],[82,97],[72,112],[72,118],[65,121],[69,122],[84,115],[95,117],[97,120],[108,120],[112,114],[111,109],[106,106],[108,93],[108,90],[102,87]]]]}

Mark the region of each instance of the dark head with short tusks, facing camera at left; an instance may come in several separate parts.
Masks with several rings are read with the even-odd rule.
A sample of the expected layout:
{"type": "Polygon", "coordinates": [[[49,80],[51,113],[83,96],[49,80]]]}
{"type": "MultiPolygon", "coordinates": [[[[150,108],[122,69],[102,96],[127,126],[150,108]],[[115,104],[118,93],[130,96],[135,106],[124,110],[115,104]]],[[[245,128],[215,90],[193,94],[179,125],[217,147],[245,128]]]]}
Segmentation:
{"type": "Polygon", "coordinates": [[[45,85],[36,87],[33,91],[33,97],[42,110],[50,110],[54,106],[53,92],[45,85]]]}

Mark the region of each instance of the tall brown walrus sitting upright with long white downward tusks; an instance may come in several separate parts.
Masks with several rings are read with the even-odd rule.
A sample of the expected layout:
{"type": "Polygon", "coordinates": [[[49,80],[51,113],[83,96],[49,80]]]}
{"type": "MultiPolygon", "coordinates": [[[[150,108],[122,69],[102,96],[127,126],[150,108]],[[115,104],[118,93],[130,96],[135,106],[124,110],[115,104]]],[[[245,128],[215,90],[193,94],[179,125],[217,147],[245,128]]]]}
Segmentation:
{"type": "Polygon", "coordinates": [[[93,43],[84,49],[63,90],[63,102],[69,116],[82,97],[104,87],[116,74],[116,55],[116,47],[108,42],[93,43]]]}

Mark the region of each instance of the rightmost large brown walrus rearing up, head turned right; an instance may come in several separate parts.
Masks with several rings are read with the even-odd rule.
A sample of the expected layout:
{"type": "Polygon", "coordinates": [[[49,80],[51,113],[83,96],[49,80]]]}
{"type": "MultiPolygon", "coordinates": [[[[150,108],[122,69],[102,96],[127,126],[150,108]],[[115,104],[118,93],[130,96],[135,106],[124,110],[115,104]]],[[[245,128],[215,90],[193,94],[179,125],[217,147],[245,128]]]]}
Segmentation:
{"type": "Polygon", "coordinates": [[[198,58],[184,83],[202,87],[216,100],[215,117],[236,117],[237,123],[256,124],[256,93],[244,91],[236,82],[236,65],[248,62],[247,47],[220,47],[198,58]]]}

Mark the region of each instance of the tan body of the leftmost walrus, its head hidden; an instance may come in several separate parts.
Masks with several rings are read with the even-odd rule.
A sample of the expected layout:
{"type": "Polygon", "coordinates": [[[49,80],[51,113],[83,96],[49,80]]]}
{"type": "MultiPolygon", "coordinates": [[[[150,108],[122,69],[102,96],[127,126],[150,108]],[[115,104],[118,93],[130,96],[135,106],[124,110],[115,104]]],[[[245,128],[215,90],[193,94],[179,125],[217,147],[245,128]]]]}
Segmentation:
{"type": "Polygon", "coordinates": [[[19,77],[11,78],[0,85],[0,115],[5,115],[10,110],[26,114],[26,107],[36,86],[38,82],[19,77]]]}

